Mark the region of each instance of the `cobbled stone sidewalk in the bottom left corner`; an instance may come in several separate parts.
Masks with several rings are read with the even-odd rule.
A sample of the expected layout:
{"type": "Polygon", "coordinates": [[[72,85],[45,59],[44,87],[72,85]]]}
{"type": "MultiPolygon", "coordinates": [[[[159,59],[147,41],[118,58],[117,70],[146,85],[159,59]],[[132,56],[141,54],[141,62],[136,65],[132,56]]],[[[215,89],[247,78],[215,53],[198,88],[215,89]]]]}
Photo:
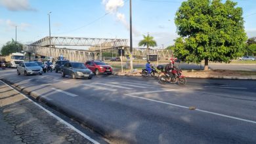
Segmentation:
{"type": "Polygon", "coordinates": [[[0,81],[0,143],[91,143],[0,81]]]}

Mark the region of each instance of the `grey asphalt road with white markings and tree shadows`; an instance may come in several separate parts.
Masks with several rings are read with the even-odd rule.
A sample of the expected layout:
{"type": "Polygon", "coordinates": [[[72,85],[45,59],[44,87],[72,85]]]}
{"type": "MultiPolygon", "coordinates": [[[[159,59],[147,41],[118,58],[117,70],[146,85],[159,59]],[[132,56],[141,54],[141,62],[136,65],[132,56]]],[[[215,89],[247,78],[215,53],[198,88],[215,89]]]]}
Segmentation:
{"type": "Polygon", "coordinates": [[[113,142],[256,143],[256,81],[187,79],[179,86],[141,77],[26,77],[15,69],[0,71],[0,79],[33,91],[113,142]]]}

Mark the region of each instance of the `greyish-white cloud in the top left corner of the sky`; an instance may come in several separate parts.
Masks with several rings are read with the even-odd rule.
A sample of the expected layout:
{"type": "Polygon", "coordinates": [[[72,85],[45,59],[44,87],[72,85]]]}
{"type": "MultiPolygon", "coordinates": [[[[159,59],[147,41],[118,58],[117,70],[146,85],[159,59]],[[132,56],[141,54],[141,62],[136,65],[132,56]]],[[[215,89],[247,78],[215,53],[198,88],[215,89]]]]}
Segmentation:
{"type": "Polygon", "coordinates": [[[0,0],[0,4],[12,11],[33,10],[28,0],[0,0]]]}

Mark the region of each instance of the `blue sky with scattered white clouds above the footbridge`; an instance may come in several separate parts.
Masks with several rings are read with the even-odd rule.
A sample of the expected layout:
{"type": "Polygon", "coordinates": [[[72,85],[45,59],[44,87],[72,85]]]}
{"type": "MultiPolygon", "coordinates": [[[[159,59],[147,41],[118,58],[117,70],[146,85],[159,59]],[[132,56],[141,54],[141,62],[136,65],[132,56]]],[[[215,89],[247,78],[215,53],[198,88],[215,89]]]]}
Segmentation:
{"type": "MultiPolygon", "coordinates": [[[[255,0],[234,0],[244,10],[245,31],[256,36],[255,0]]],[[[133,46],[150,33],[158,47],[177,37],[175,12],[182,0],[133,0],[133,46]]],[[[7,41],[30,44],[49,35],[129,39],[129,0],[0,0],[0,48],[7,41]]]]}

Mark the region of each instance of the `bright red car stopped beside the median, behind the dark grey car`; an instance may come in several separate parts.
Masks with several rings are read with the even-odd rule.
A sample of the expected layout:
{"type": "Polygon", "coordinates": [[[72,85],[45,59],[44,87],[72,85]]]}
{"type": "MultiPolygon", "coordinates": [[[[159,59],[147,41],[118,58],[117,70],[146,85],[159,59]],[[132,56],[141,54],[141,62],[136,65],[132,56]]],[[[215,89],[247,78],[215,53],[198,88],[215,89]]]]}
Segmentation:
{"type": "Polygon", "coordinates": [[[85,66],[88,67],[88,69],[91,69],[95,75],[100,75],[102,73],[111,75],[113,71],[110,65],[106,65],[106,63],[100,61],[87,61],[85,62],[85,66]]]}

